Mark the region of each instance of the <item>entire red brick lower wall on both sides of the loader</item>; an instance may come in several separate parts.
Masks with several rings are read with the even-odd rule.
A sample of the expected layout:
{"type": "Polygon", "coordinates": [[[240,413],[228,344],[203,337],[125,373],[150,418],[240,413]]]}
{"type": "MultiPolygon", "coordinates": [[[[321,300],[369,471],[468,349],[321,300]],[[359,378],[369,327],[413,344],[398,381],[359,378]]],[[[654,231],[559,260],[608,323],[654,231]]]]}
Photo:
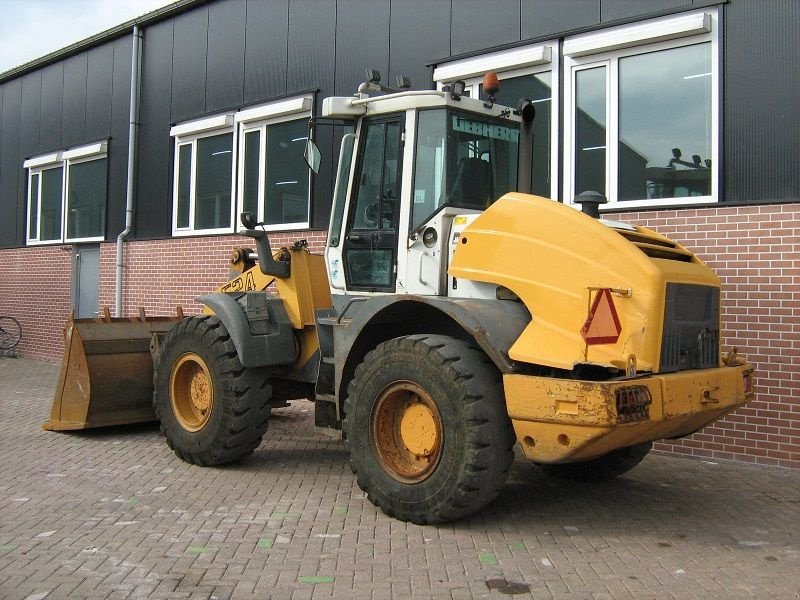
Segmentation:
{"type": "MultiPolygon", "coordinates": [[[[661,452],[800,468],[800,205],[714,207],[614,215],[684,244],[722,278],[723,344],[738,346],[757,371],[756,400],[661,452]]],[[[323,232],[271,236],[273,247],[307,238],[321,252],[323,232]]],[[[238,236],[129,242],[124,314],[187,313],[193,300],[227,279],[238,236]]],[[[0,251],[0,312],[20,319],[20,352],[58,360],[69,313],[69,247],[0,251]],[[62,249],[63,248],[63,249],[62,249]],[[42,282],[46,281],[46,285],[42,282]]],[[[101,246],[100,303],[114,305],[115,246],[101,246]]]]}

